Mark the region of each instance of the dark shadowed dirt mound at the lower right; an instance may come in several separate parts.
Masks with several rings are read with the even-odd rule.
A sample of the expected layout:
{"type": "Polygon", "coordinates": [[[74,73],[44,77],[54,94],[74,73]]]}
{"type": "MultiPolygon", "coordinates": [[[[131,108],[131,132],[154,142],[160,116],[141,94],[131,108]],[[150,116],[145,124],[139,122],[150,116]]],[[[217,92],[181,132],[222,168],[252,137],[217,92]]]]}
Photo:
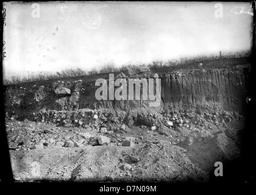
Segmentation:
{"type": "Polygon", "coordinates": [[[232,161],[240,156],[240,149],[225,133],[213,135],[207,130],[194,129],[184,141],[177,144],[187,150],[191,161],[210,172],[216,161],[232,161]]]}

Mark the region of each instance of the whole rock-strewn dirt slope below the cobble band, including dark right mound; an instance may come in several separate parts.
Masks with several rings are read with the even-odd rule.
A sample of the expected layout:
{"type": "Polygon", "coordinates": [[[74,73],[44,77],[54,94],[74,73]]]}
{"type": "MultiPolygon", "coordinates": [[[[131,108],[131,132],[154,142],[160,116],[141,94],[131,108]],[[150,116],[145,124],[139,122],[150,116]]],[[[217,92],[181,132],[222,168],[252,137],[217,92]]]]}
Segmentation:
{"type": "MultiPolygon", "coordinates": [[[[237,129],[243,121],[236,123],[232,126],[237,129]]],[[[175,121],[173,124],[151,130],[151,126],[130,129],[118,123],[110,129],[108,125],[100,127],[95,121],[85,128],[70,128],[9,120],[6,126],[15,179],[207,182],[216,161],[231,161],[239,156],[234,129],[227,130],[211,122],[207,127],[212,129],[207,130],[201,126],[187,128],[187,124],[179,127],[180,123],[175,121]],[[99,135],[107,137],[110,143],[100,146],[98,141],[93,142],[99,135]],[[128,137],[134,138],[134,144],[122,146],[128,137]],[[126,164],[129,169],[124,169],[126,164]],[[33,172],[38,165],[40,176],[33,172]]]]}

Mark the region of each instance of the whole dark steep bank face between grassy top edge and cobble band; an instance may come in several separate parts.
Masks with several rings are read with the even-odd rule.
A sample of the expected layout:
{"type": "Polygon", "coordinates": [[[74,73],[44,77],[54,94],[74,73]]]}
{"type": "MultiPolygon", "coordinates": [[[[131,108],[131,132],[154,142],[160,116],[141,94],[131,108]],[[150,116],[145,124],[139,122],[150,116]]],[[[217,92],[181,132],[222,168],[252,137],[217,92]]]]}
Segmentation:
{"type": "MultiPolygon", "coordinates": [[[[149,100],[143,100],[143,87],[140,85],[140,100],[129,99],[129,79],[137,79],[140,84],[141,79],[155,80],[157,74],[147,72],[123,78],[127,81],[127,100],[100,100],[95,97],[95,80],[87,82],[77,80],[75,82],[53,82],[51,85],[33,87],[13,88],[7,87],[5,91],[5,108],[9,115],[12,112],[24,114],[27,112],[38,112],[41,109],[51,110],[77,110],[82,108],[107,108],[113,111],[123,110],[129,112],[130,109],[140,107],[159,110],[162,108],[180,107],[194,108],[198,112],[204,109],[226,110],[233,112],[243,112],[246,98],[246,79],[243,73],[244,66],[232,69],[197,69],[187,71],[176,71],[171,74],[159,74],[161,79],[161,104],[158,107],[150,107],[149,100]]],[[[124,77],[124,74],[121,74],[124,77]]],[[[119,78],[117,75],[116,78],[119,78]]],[[[98,78],[97,78],[98,79],[98,78]]],[[[105,76],[107,80],[107,74],[105,76]]],[[[109,82],[107,80],[108,99],[109,82]]],[[[121,86],[121,85],[120,85],[121,86]]],[[[115,87],[117,90],[119,86],[115,87]]],[[[133,92],[135,94],[135,85],[133,92]]],[[[149,89],[151,90],[151,89],[149,89]]]]}

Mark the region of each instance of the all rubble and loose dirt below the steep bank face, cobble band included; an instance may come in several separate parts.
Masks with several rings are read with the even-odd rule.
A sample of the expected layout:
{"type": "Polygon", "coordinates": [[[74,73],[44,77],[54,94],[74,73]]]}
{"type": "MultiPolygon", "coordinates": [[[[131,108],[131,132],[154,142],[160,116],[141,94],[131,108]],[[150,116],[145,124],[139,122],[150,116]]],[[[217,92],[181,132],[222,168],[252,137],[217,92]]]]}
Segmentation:
{"type": "Polygon", "coordinates": [[[31,179],[27,165],[37,161],[44,176],[51,178],[99,180],[101,172],[101,179],[108,182],[127,178],[202,182],[216,161],[239,156],[230,133],[233,129],[229,132],[223,127],[230,127],[239,117],[233,112],[147,115],[41,110],[24,121],[9,118],[5,126],[15,176],[21,178],[31,179]],[[19,167],[21,157],[23,168],[19,167]],[[80,175],[75,177],[74,170],[80,175]]]}

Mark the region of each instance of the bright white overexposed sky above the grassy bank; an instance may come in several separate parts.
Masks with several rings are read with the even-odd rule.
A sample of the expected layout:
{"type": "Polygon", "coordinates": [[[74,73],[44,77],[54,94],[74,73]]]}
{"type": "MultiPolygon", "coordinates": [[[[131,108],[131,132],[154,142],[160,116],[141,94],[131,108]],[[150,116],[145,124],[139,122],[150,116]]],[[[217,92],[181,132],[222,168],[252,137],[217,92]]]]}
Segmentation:
{"type": "MultiPolygon", "coordinates": [[[[223,2],[8,2],[5,78],[36,71],[150,63],[251,47],[251,4],[223,2]],[[232,10],[235,12],[232,12],[232,10]]],[[[251,11],[252,12],[252,11],[251,11]]]]}

